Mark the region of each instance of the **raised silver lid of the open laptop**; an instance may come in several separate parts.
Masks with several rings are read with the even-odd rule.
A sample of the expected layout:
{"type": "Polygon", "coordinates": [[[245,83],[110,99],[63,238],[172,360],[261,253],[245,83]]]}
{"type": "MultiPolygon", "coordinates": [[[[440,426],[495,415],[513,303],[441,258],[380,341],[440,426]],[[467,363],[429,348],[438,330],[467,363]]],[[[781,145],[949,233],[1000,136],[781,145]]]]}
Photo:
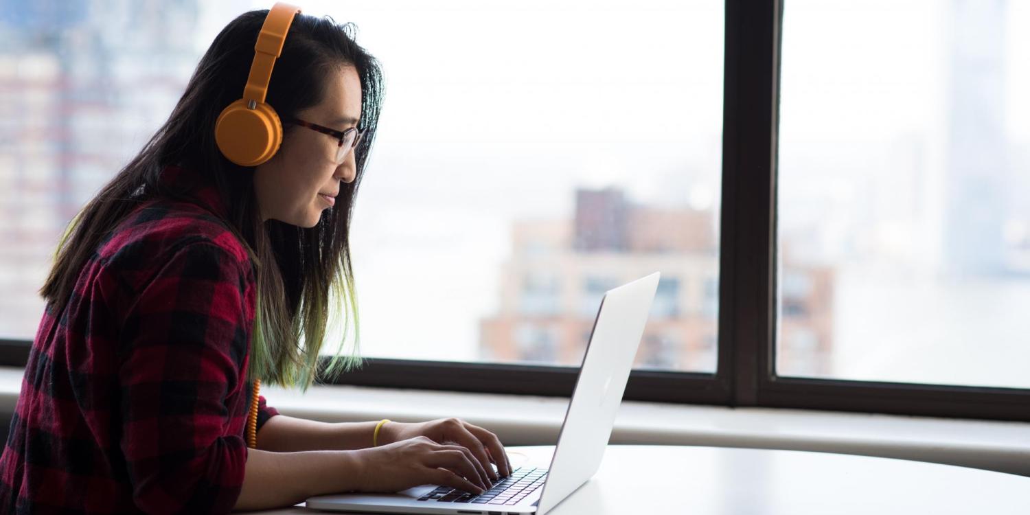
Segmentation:
{"type": "Polygon", "coordinates": [[[600,467],[659,275],[655,272],[610,289],[602,299],[537,505],[538,515],[557,506],[600,467]]]}

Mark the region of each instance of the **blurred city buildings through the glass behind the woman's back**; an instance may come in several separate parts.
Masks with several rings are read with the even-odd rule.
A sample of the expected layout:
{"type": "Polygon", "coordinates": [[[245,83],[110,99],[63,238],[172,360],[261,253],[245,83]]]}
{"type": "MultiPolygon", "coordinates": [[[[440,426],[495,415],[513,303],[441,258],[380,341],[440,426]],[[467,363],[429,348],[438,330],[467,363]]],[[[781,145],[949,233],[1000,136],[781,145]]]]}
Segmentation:
{"type": "Polygon", "coordinates": [[[75,212],[182,95],[196,0],[0,2],[0,337],[29,338],[75,212]]]}

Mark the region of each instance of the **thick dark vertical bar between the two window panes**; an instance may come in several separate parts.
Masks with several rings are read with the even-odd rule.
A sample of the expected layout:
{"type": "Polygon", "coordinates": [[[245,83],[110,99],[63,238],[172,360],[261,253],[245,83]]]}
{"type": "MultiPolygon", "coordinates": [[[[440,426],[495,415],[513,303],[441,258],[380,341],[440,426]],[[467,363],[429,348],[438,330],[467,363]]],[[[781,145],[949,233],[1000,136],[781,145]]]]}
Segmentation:
{"type": "Polygon", "coordinates": [[[779,9],[778,0],[726,1],[719,344],[734,406],[758,405],[771,373],[779,9]]]}

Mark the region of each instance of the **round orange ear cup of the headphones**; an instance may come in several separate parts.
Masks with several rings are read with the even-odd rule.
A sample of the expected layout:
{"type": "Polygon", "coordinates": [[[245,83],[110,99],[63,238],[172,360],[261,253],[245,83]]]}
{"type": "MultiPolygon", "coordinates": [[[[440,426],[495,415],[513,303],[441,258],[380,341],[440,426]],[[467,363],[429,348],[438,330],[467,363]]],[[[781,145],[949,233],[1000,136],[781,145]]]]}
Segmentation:
{"type": "Polygon", "coordinates": [[[214,141],[229,161],[258,166],[272,159],[282,144],[282,123],[272,106],[262,102],[253,109],[247,100],[229,104],[214,125],[214,141]]]}

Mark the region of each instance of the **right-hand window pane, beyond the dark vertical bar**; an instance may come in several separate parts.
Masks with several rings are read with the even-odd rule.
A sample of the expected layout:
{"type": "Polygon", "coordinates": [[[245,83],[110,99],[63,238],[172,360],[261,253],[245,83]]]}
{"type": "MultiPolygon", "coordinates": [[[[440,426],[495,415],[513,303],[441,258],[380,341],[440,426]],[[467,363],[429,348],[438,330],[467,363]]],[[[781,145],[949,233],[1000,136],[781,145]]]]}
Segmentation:
{"type": "Polygon", "coordinates": [[[1030,387],[1030,6],[783,23],[777,370],[1030,387]]]}

